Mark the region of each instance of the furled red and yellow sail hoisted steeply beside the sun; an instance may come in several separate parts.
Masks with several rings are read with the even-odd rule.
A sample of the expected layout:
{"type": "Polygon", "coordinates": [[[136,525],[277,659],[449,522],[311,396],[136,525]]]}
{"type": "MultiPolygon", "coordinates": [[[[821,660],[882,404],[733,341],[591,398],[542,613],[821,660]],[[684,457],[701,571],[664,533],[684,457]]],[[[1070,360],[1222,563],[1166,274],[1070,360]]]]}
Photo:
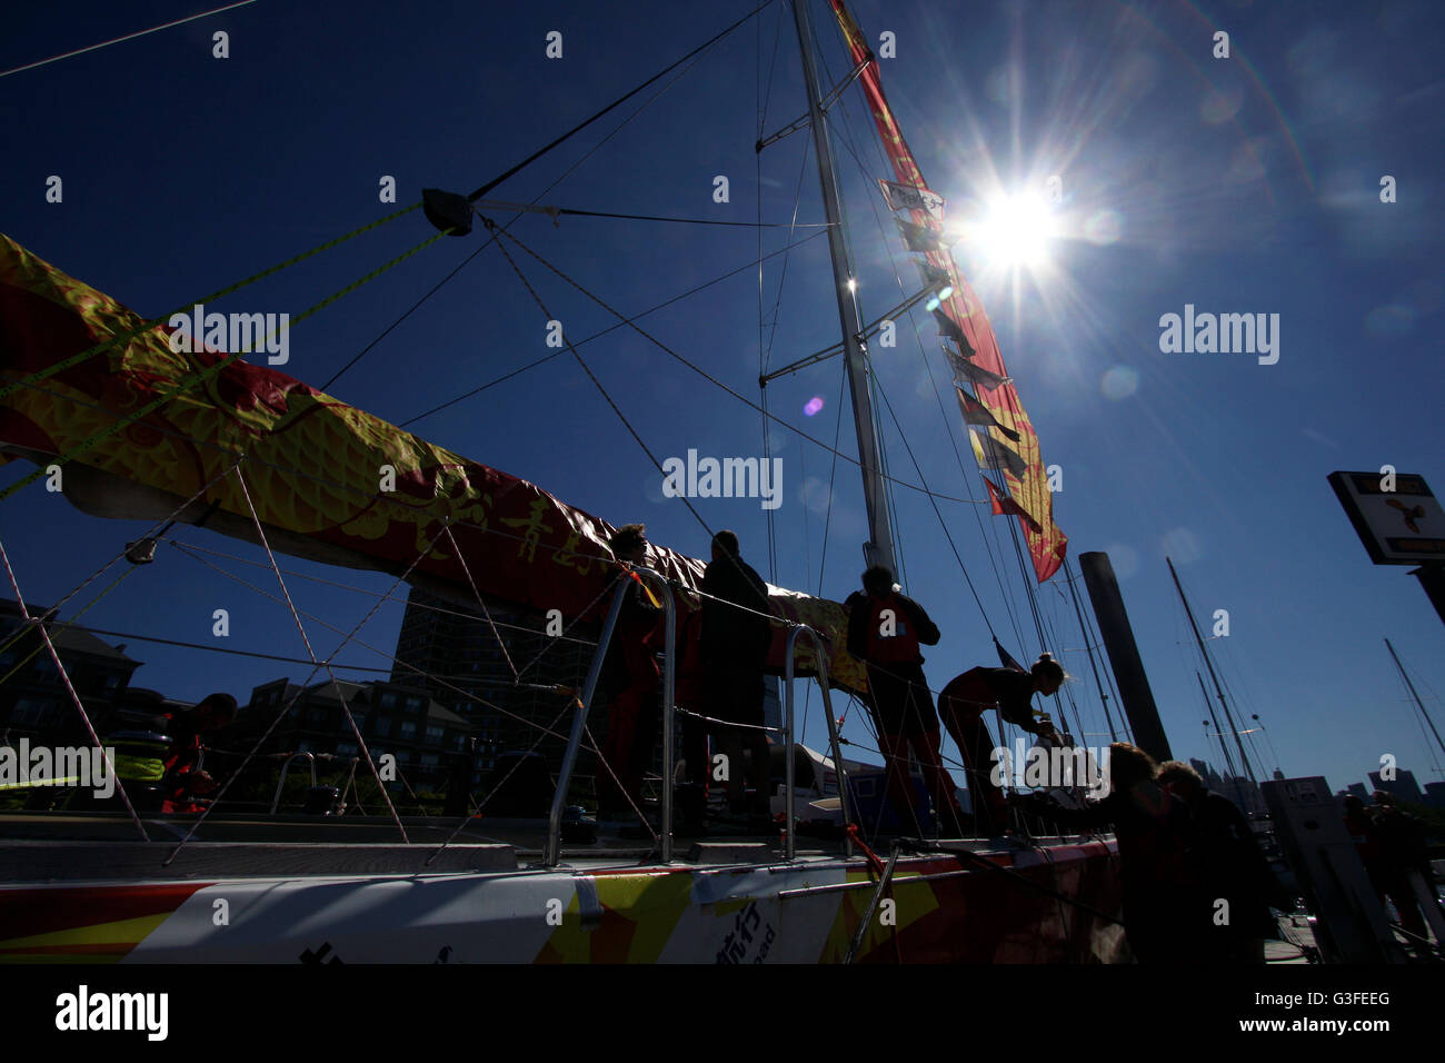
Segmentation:
{"type": "MultiPolygon", "coordinates": [[[[942,301],[935,317],[942,334],[957,350],[948,349],[949,364],[958,383],[977,388],[978,402],[993,415],[994,424],[987,427],[987,443],[975,437],[974,451],[988,458],[985,469],[996,470],[1007,484],[1013,502],[1023,511],[1019,524],[1029,541],[1029,555],[1039,583],[1053,576],[1064,564],[1068,538],[1053,524],[1053,496],[1049,493],[1043,458],[1039,454],[1039,437],[1019,401],[1019,393],[1007,379],[1009,370],[998,353],[993,325],[972,288],[962,279],[954,265],[954,256],[945,244],[936,242],[944,226],[944,200],[928,189],[913,153],[893,119],[889,101],[883,95],[877,62],[871,61],[868,45],[842,0],[831,0],[838,16],[854,67],[867,62],[860,75],[873,120],[883,139],[883,148],[893,163],[896,181],[883,181],[883,195],[892,210],[907,210],[910,223],[900,231],[909,250],[923,252],[928,265],[925,276],[946,275],[952,295],[942,301]],[[932,234],[932,236],[931,236],[932,234]]],[[[968,418],[965,408],[965,419],[968,418]]],[[[970,419],[970,424],[980,424],[970,419]]],[[[984,458],[980,458],[984,463],[984,458]]],[[[998,512],[997,509],[994,512],[998,512]]]]}

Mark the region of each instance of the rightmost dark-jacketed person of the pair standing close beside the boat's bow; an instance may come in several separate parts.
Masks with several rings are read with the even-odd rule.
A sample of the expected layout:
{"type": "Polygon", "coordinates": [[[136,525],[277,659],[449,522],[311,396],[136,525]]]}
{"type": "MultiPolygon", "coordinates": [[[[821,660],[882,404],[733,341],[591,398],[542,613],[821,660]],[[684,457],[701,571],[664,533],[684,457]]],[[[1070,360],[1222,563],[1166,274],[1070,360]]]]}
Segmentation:
{"type": "Polygon", "coordinates": [[[1270,905],[1287,910],[1293,904],[1274,881],[1250,821],[1182,761],[1166,761],[1156,778],[1189,810],[1194,848],[1188,866],[1196,892],[1191,936],[1201,943],[1204,959],[1263,963],[1264,939],[1279,936],[1270,905]]]}

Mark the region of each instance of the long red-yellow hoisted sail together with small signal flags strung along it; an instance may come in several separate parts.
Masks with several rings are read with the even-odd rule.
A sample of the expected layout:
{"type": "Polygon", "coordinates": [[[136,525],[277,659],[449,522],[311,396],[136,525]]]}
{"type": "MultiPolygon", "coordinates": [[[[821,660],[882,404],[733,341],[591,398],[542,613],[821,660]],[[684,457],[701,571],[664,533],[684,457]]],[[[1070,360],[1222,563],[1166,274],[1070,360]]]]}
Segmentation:
{"type": "MultiPolygon", "coordinates": [[[[863,91],[868,98],[868,110],[873,111],[873,120],[877,124],[879,137],[883,140],[883,149],[893,165],[896,181],[886,182],[886,185],[897,185],[902,189],[915,191],[926,189],[928,182],[923,179],[923,174],[919,171],[918,162],[915,162],[907,142],[903,139],[903,132],[893,117],[887,97],[883,95],[883,82],[879,80],[879,64],[871,61],[867,39],[853,20],[853,16],[848,14],[842,0],[829,0],[829,3],[838,19],[838,26],[848,42],[848,52],[854,67],[863,68],[858,80],[863,82],[863,91]]],[[[884,195],[890,195],[887,187],[884,187],[884,195]]],[[[928,226],[932,223],[936,226],[942,223],[942,198],[935,198],[939,200],[936,211],[928,208],[926,204],[922,208],[913,210],[915,224],[928,226]]],[[[890,198],[892,202],[893,200],[890,198]]],[[[936,315],[939,327],[944,328],[945,336],[955,338],[959,344],[959,351],[965,357],[974,359],[975,366],[1006,380],[1009,369],[998,353],[998,341],[994,337],[993,325],[988,324],[988,315],[978,302],[978,296],[974,295],[972,288],[958,273],[954,256],[946,247],[941,247],[928,252],[928,262],[935,269],[944,270],[948,275],[954,289],[949,298],[944,301],[941,307],[942,312],[936,315]],[[949,323],[946,327],[944,325],[945,320],[949,323]],[[961,340],[957,338],[955,331],[962,337],[961,340]]],[[[954,359],[951,357],[949,360],[952,362],[954,359]]],[[[1038,532],[1027,532],[1027,539],[1035,576],[1039,583],[1043,583],[1064,564],[1068,538],[1053,524],[1053,496],[1049,493],[1043,460],[1039,454],[1039,437],[1035,434],[1033,424],[1029,421],[1029,415],[1025,412],[1023,404],[1019,401],[1019,393],[1012,383],[1004,382],[996,388],[990,388],[987,392],[981,392],[980,401],[994,415],[998,425],[1019,432],[1017,453],[996,440],[990,438],[990,443],[1013,457],[1013,461],[1006,461],[1004,471],[1009,495],[1039,525],[1038,532]],[[1016,467],[1014,463],[1022,467],[1016,467]]],[[[974,447],[975,453],[981,448],[977,443],[977,435],[974,447]]]]}

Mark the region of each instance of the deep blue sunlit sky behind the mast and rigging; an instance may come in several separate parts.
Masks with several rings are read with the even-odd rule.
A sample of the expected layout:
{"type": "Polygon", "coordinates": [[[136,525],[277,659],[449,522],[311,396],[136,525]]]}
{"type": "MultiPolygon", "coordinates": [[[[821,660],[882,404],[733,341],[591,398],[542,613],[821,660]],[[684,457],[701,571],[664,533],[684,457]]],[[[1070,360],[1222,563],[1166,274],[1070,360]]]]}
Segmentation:
{"type": "MultiPolygon", "coordinates": [[[[159,314],[394,210],[377,201],[383,175],[396,176],[403,204],[428,185],[471,191],[750,4],[659,3],[644,16],[637,7],[260,0],[3,77],[4,231],[131,308],[159,314]],[[211,55],[215,30],[230,33],[227,59],[211,55]],[[551,30],[562,33],[561,59],[545,55],[551,30]],[[64,178],[62,204],[45,202],[52,174],[64,178]]],[[[0,69],[202,9],[55,3],[14,12],[0,69]]],[[[1325,482],[1337,469],[1393,464],[1436,490],[1445,483],[1439,344],[1429,338],[1445,298],[1438,4],[858,0],[853,10],[873,42],[896,35],[897,56],[881,61],[884,88],[949,217],[1061,176],[1061,236],[1046,269],[1009,273],[967,242],[955,255],[988,308],[1043,458],[1062,469],[1055,516],[1071,555],[1103,550],[1113,558],[1175,754],[1220,761],[1199,725],[1199,664],[1166,552],[1207,632],[1214,610],[1228,610],[1230,635],[1212,639],[1211,652],[1237,709],[1264,720],[1286,774],[1324,774],[1340,788],[1393,754],[1422,782],[1441,778],[1381,641],[1394,641],[1439,720],[1439,619],[1407,568],[1370,564],[1325,482]],[[1228,59],[1211,54],[1217,29],[1230,33],[1228,59]],[[1396,178],[1397,202],[1380,202],[1381,175],[1396,178]],[[1186,304],[1279,314],[1279,362],[1160,353],[1160,315],[1186,304]]],[[[824,7],[814,20],[825,78],[837,80],[841,38],[824,7]]],[[[799,221],[821,221],[806,135],[754,155],[760,84],[770,90],[766,132],[803,111],[790,13],[776,4],[607,143],[598,148],[652,90],[493,195],[529,201],[564,178],[543,202],[749,223],[760,211],[786,223],[801,187],[799,221]],[[727,204],[712,200],[718,175],[730,181],[727,204]]],[[[834,120],[858,296],[873,320],[902,298],[894,266],[909,294],[916,272],[896,234],[880,229],[886,211],[868,182],[890,174],[857,90],[834,120]]],[[[496,217],[510,215],[499,208],[496,217]]],[[[553,227],[527,215],[512,231],[629,314],[759,252],[750,229],[603,218],[553,227]]],[[[407,215],[217,308],[299,314],[429,234],[407,215]]],[[[788,240],[788,230],[764,230],[762,249],[788,240]]],[[[299,324],[286,372],[322,385],[480,242],[475,233],[439,242],[299,324]]],[[[777,367],[838,336],[825,242],[792,252],[786,278],[782,262],[769,260],[762,299],[756,270],[744,269],[644,327],[756,402],[760,344],[777,367]],[[762,340],[760,301],[769,318],[762,340]]],[[[523,268],[571,337],[613,324],[553,275],[523,268]]],[[[488,249],[329,390],[407,421],[549,353],[543,325],[488,249]]],[[[884,411],[890,469],[919,483],[902,424],[929,487],[983,499],[933,336],[919,312],[900,321],[896,349],[874,350],[897,421],[884,411]],[[945,389],[942,412],[935,386],[945,389]]],[[[756,411],[636,333],[610,333],[581,351],[659,457],[762,453],[756,411]]],[[[831,441],[840,370],[828,362],[775,382],[769,408],[831,441]],[[815,396],[824,408],[809,418],[803,406],[815,396]]],[[[568,356],[409,428],[616,524],[644,521],[656,542],[705,554],[702,528],[662,496],[660,474],[568,356]]],[[[783,460],[776,570],[757,500],[695,505],[711,526],[737,529],[744,555],[775,583],[842,599],[863,568],[857,470],[838,463],[834,476],[831,456],[788,428],[773,425],[772,437],[783,460]]],[[[840,440],[854,451],[850,424],[840,440]]],[[[26,471],[0,469],[0,479],[9,484],[26,471]]],[[[900,489],[896,505],[907,590],[944,631],[926,667],[938,688],[994,662],[988,626],[926,499],[900,489]]],[[[1001,518],[965,502],[939,508],[994,629],[1032,658],[1038,636],[1001,518]]],[[[39,602],[68,593],[139,529],[88,518],[39,484],[0,515],[22,590],[39,602]]],[[[260,557],[204,531],[181,538],[260,557]]],[[[262,570],[224,564],[273,590],[262,570]]],[[[373,592],[389,586],[366,573],[288,567],[373,592]]],[[[292,590],[303,609],[344,629],[371,603],[324,584],[292,581],[292,590]]],[[[1048,648],[1079,677],[1071,691],[1084,730],[1101,732],[1061,590],[1059,580],[1039,589],[1048,648]]],[[[303,655],[288,613],[175,551],[85,619],[205,642],[215,607],[231,610],[233,648],[303,655]]],[[[392,649],[400,612],[384,607],[363,638],[392,649]]],[[[322,654],[340,641],[324,629],[312,635],[322,654]]],[[[136,641],[130,652],[146,661],[137,684],[176,697],[218,684],[244,694],[286,671],[301,678],[279,664],[136,641]]],[[[386,665],[354,646],[340,659],[386,665]]],[[[819,735],[811,730],[811,740],[819,735]]],[[[853,735],[866,739],[861,729],[853,735]]]]}

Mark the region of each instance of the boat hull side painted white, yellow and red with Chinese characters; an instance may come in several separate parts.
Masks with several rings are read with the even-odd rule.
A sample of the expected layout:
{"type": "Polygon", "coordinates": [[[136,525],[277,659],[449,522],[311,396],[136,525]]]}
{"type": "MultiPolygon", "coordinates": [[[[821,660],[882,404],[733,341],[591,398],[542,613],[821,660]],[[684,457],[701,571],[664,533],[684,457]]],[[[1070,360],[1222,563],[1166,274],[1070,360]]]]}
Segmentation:
{"type": "MultiPolygon", "coordinates": [[[[1101,918],[1118,915],[1113,843],[985,852],[985,859],[1012,874],[954,855],[900,858],[884,894],[892,904],[874,910],[855,960],[1120,959],[1121,927],[1101,918]]],[[[481,875],[10,885],[0,887],[0,962],[837,963],[876,884],[861,858],[812,856],[481,875]]]]}

